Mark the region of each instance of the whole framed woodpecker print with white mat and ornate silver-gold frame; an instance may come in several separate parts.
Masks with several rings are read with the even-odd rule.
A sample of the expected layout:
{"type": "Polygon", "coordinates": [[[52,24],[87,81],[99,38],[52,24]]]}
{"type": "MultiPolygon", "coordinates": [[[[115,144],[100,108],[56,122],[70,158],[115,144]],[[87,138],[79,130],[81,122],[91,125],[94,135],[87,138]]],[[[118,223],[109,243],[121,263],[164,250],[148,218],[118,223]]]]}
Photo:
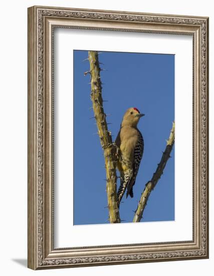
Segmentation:
{"type": "Polygon", "coordinates": [[[28,266],[208,258],[208,18],[28,9],[28,266]]]}

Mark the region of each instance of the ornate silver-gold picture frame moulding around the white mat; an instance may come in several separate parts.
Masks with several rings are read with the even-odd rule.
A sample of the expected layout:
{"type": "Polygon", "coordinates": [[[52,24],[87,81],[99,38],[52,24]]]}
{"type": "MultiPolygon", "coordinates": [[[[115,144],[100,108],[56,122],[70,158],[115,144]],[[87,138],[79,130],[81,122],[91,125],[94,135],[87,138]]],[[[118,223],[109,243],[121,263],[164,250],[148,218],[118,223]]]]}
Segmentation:
{"type": "Polygon", "coordinates": [[[52,7],[28,9],[28,267],[88,266],[208,257],[208,18],[52,7]],[[118,24],[119,23],[119,24],[118,24]],[[54,248],[53,29],[193,37],[193,240],[54,248]]]}

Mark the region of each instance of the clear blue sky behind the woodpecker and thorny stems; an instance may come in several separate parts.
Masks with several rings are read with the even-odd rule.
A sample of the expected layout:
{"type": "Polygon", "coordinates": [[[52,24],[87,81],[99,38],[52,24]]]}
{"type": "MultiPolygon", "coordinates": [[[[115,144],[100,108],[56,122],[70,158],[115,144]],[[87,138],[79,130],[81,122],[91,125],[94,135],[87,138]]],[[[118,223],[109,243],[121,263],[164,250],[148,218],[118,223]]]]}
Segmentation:
{"type": "MultiPolygon", "coordinates": [[[[100,49],[98,49],[100,50],[100,49]]],[[[99,51],[101,52],[101,51],[99,51]]],[[[87,51],[74,51],[74,224],[109,223],[106,173],[97,126],[90,109],[87,51]]],[[[166,146],[174,120],[174,55],[101,52],[102,95],[109,130],[116,139],[124,112],[137,107],[144,154],[134,185],[134,197],[123,197],[120,218],[131,222],[145,184],[151,179],[166,146]]],[[[143,221],[174,220],[174,149],[164,174],[150,194],[143,221]]],[[[119,186],[119,179],[118,179],[119,186]]]]}

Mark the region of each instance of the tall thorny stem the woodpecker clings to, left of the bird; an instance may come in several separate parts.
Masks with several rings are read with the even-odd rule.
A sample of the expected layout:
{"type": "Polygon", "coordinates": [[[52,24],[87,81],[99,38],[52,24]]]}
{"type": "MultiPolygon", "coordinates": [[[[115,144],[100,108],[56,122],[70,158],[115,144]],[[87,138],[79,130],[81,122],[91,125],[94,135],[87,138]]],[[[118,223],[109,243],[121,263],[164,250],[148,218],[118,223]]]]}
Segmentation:
{"type": "Polygon", "coordinates": [[[90,71],[85,72],[85,74],[89,73],[91,75],[91,100],[100,143],[104,150],[109,222],[118,223],[120,222],[120,215],[117,203],[117,148],[116,145],[112,143],[111,132],[108,130],[106,114],[103,109],[102,86],[100,80],[101,69],[99,66],[98,52],[89,51],[88,59],[90,63],[90,71]]]}

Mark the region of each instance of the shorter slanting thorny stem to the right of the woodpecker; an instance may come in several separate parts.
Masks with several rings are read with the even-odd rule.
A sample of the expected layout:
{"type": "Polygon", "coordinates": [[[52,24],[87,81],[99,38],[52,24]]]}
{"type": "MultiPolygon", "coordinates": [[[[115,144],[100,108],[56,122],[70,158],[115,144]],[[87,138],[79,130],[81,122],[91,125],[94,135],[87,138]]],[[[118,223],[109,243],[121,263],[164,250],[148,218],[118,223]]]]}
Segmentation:
{"type": "Polygon", "coordinates": [[[165,151],[162,154],[160,163],[158,164],[157,169],[156,169],[155,173],[153,174],[152,179],[146,183],[145,189],[144,189],[143,193],[141,194],[141,198],[138,203],[137,210],[136,210],[134,218],[133,218],[133,222],[140,222],[140,220],[143,216],[143,211],[145,209],[148,197],[149,197],[151,191],[156,186],[161,175],[163,174],[163,170],[166,166],[166,163],[167,163],[168,159],[170,158],[170,153],[172,151],[173,145],[174,145],[174,122],[172,123],[172,129],[171,129],[171,132],[169,135],[169,139],[167,140],[167,143],[166,143],[165,151]]]}

